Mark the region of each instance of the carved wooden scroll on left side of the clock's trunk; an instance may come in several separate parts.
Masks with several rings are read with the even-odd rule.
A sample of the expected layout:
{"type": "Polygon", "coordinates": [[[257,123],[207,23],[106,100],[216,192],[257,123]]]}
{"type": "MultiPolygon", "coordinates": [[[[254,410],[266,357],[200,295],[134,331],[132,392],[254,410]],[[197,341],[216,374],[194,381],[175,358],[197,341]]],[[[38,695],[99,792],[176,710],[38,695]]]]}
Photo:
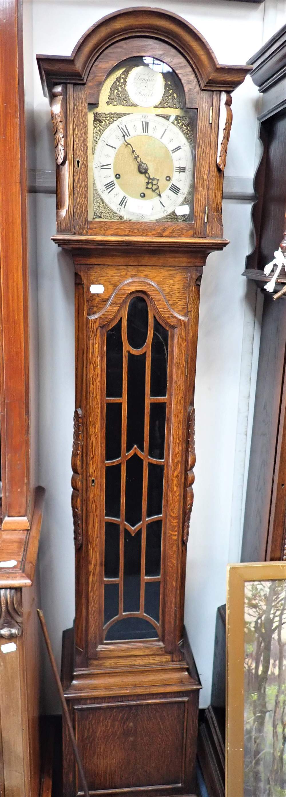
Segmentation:
{"type": "Polygon", "coordinates": [[[73,540],[76,551],[82,544],[82,467],[83,467],[83,417],[81,410],[73,415],[72,442],[72,518],[73,540]]]}

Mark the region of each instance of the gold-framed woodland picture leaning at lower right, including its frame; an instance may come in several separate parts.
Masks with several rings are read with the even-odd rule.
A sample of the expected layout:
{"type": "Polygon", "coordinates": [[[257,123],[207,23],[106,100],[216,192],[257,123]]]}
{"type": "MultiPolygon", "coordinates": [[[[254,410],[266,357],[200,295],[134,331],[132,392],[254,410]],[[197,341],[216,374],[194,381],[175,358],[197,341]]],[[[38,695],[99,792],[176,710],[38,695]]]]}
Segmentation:
{"type": "Polygon", "coordinates": [[[226,797],[286,797],[286,564],[228,567],[226,797]]]}

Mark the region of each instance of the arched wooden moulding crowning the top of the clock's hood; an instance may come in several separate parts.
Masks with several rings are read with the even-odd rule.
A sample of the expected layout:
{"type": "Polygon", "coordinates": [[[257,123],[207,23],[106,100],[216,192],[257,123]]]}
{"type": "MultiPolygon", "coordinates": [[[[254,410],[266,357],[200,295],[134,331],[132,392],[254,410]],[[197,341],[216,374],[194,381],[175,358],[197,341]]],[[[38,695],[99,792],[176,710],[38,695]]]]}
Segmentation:
{"type": "Polygon", "coordinates": [[[108,46],[123,38],[151,36],[175,46],[194,69],[201,89],[231,92],[252,69],[225,66],[217,59],[206,39],[189,22],[161,9],[124,9],[100,19],[77,42],[71,56],[37,55],[37,65],[45,96],[51,100],[53,85],[84,84],[96,59],[108,46]]]}

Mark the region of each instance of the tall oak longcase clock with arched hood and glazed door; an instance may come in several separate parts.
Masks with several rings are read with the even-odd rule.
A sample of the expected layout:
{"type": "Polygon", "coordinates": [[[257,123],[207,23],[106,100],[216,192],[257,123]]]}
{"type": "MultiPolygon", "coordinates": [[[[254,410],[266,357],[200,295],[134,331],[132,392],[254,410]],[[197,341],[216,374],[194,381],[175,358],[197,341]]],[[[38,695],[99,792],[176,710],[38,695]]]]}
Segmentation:
{"type": "MultiPolygon", "coordinates": [[[[37,58],[51,101],[57,235],[72,252],[76,618],[62,681],[89,790],[190,795],[200,683],[183,630],[198,302],[223,249],[233,88],[161,10],[104,18],[37,58]]],[[[64,793],[82,786],[64,727],[64,793]]]]}

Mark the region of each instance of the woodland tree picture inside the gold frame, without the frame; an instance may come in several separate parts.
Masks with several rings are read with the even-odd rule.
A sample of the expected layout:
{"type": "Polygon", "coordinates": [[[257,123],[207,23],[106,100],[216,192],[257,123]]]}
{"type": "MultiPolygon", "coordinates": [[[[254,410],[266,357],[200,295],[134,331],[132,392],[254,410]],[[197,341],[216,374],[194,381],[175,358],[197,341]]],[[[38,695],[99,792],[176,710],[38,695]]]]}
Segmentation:
{"type": "Polygon", "coordinates": [[[244,797],[286,797],[286,582],[245,583],[244,797]]]}

